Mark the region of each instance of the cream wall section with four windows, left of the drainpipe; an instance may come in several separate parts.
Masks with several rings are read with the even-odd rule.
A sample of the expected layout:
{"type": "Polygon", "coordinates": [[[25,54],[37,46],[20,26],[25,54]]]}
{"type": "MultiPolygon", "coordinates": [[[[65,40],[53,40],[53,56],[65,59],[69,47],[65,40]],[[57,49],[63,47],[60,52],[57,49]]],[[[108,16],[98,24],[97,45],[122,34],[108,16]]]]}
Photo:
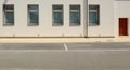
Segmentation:
{"type": "MultiPolygon", "coordinates": [[[[0,15],[5,0],[0,0],[0,15]]],[[[14,26],[3,26],[0,16],[0,37],[84,37],[83,0],[8,0],[14,4],[14,26]],[[39,26],[27,26],[27,4],[39,4],[39,26]],[[52,26],[52,4],[64,5],[64,25],[52,26]],[[80,4],[81,25],[69,26],[69,5],[80,4]]]]}

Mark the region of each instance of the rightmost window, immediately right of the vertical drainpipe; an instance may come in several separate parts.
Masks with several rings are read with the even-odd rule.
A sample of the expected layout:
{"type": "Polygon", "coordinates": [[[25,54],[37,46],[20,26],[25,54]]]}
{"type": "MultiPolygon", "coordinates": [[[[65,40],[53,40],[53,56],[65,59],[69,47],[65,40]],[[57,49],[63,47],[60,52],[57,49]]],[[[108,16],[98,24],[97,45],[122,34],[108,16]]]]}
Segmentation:
{"type": "Polygon", "coordinates": [[[99,5],[89,5],[89,24],[99,25],[100,23],[100,6],[99,5]]]}

